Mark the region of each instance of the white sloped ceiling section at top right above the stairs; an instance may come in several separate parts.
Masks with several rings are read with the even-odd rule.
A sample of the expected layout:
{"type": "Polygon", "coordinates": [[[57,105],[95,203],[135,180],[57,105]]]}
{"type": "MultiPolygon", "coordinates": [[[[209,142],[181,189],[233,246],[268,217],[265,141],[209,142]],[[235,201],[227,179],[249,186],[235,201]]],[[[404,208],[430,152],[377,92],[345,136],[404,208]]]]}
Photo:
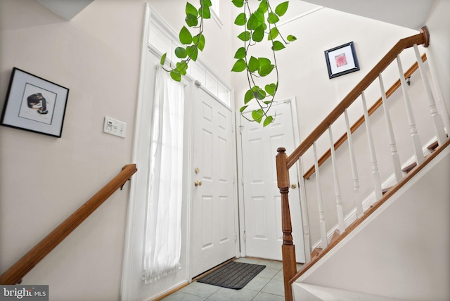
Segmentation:
{"type": "MultiPolygon", "coordinates": [[[[293,2],[294,0],[291,0],[293,2]]],[[[420,30],[434,0],[302,0],[354,15],[420,30]]]]}

